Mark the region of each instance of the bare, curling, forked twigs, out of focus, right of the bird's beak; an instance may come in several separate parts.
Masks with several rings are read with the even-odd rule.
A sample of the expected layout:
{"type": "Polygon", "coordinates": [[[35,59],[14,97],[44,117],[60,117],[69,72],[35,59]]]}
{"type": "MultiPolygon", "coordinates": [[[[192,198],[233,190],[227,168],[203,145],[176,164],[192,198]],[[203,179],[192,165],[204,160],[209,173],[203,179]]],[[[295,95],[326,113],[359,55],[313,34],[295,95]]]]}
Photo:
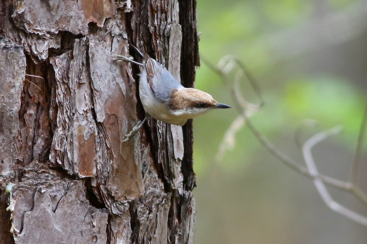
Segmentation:
{"type": "MultiPolygon", "coordinates": [[[[268,149],[268,151],[273,154],[276,158],[278,158],[281,162],[286,164],[288,167],[294,169],[296,172],[301,173],[311,179],[315,182],[316,188],[319,191],[321,197],[325,201],[328,207],[330,207],[332,210],[337,211],[338,213],[345,215],[346,217],[353,219],[356,222],[359,222],[360,224],[367,225],[367,218],[363,217],[362,215],[342,206],[341,204],[335,202],[331,196],[328,194],[327,189],[324,185],[324,183],[328,185],[332,185],[334,187],[337,187],[339,189],[344,189],[346,191],[352,192],[353,195],[355,195],[361,202],[364,204],[367,204],[367,195],[364,194],[364,192],[358,188],[355,184],[353,184],[353,179],[356,177],[356,169],[358,168],[358,162],[360,157],[360,150],[361,145],[363,142],[363,135],[366,130],[366,121],[367,121],[367,104],[366,109],[364,111],[364,116],[362,120],[362,125],[360,128],[358,143],[357,143],[357,149],[356,149],[356,156],[355,156],[355,163],[353,165],[352,170],[352,177],[351,177],[351,183],[340,181],[337,179],[334,179],[332,177],[324,176],[322,174],[319,174],[316,170],[315,163],[312,159],[312,154],[310,152],[312,146],[314,146],[316,143],[320,142],[321,140],[327,138],[330,135],[339,133],[341,131],[341,127],[335,127],[329,131],[326,132],[320,132],[319,134],[316,134],[312,138],[308,139],[304,146],[302,146],[302,151],[304,153],[305,161],[306,161],[306,167],[303,167],[298,164],[295,160],[288,157],[286,154],[284,154],[282,151],[277,149],[274,144],[272,144],[261,132],[259,132],[254,125],[251,123],[251,121],[248,118],[248,106],[246,105],[247,102],[244,99],[243,95],[239,93],[238,88],[238,80],[237,77],[239,75],[237,74],[235,77],[235,85],[231,85],[228,73],[231,69],[233,69],[233,60],[234,62],[239,66],[240,70],[242,70],[243,74],[247,76],[248,81],[251,83],[252,88],[254,89],[255,93],[260,98],[260,105],[258,108],[260,108],[264,102],[262,101],[261,91],[259,87],[257,86],[257,82],[255,79],[252,78],[250,73],[245,69],[245,66],[237,59],[233,58],[233,60],[230,60],[231,57],[225,57],[222,60],[225,60],[225,62],[221,63],[221,67],[215,67],[214,65],[210,64],[207,60],[204,60],[204,63],[208,65],[208,67],[218,74],[218,76],[222,79],[222,81],[225,83],[225,85],[228,87],[230,93],[232,94],[232,97],[235,98],[235,106],[236,109],[239,111],[240,115],[236,118],[236,120],[232,123],[230,128],[227,130],[224,139],[221,143],[221,146],[219,147],[219,152],[217,154],[217,159],[221,159],[225,153],[225,150],[228,148],[231,148],[234,146],[234,135],[236,132],[243,126],[243,124],[246,124],[247,127],[250,129],[251,133],[254,134],[254,136],[258,139],[258,141],[263,144],[263,146],[268,149]]],[[[219,66],[219,65],[218,65],[219,66]]],[[[248,103],[249,104],[249,103],[248,103]]],[[[296,138],[297,140],[297,138],[296,138]]],[[[298,140],[297,140],[298,141],[298,140]]],[[[301,144],[299,144],[300,146],[301,144]]]]}

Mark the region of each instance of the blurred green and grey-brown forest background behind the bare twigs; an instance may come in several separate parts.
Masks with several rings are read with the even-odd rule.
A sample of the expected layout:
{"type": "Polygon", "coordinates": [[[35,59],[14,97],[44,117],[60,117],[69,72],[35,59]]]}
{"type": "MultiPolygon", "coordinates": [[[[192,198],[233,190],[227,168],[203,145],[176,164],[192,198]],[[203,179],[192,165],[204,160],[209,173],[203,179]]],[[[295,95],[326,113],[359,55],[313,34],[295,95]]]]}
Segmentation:
{"type": "MultiPolygon", "coordinates": [[[[301,142],[341,125],[342,133],[317,144],[313,155],[321,174],[348,181],[367,101],[367,1],[198,0],[197,16],[196,88],[235,104],[206,62],[237,57],[258,81],[265,102],[251,115],[254,126],[304,166],[295,141],[304,121],[318,124],[302,127],[301,142]]],[[[245,78],[240,85],[246,100],[258,104],[245,78]]],[[[194,120],[196,244],[367,243],[367,226],[330,210],[313,181],[273,157],[246,126],[216,161],[238,115],[232,108],[194,120]]],[[[366,156],[364,146],[356,181],[364,192],[366,156]]],[[[327,189],[335,201],[367,216],[367,206],[352,194],[327,189]]]]}

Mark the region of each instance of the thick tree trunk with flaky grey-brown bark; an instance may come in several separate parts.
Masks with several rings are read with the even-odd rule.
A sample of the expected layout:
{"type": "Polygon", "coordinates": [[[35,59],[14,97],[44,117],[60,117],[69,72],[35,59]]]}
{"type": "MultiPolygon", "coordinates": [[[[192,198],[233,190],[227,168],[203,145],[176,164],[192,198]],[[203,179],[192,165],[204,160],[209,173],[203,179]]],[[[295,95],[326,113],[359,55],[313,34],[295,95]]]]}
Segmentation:
{"type": "Polygon", "coordinates": [[[121,142],[128,43],[192,87],[196,1],[0,0],[0,244],[193,242],[192,121],[121,142]]]}

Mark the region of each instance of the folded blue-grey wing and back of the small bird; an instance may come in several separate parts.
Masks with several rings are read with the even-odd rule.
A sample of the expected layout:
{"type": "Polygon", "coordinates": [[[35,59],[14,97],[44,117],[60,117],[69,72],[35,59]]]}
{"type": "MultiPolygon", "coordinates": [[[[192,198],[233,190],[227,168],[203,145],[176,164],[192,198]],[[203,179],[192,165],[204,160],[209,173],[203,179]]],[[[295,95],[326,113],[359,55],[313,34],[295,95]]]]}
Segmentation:
{"type": "Polygon", "coordinates": [[[168,102],[172,89],[182,87],[166,67],[150,57],[146,60],[146,69],[149,88],[159,101],[168,102]]]}

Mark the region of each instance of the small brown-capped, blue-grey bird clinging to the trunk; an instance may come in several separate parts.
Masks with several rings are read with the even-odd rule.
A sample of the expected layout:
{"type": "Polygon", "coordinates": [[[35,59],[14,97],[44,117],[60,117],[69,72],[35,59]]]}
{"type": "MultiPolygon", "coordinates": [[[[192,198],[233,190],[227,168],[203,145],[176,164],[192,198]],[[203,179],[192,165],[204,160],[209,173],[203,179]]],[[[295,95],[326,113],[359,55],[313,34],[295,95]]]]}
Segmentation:
{"type": "Polygon", "coordinates": [[[182,86],[163,64],[143,54],[134,45],[131,46],[141,56],[142,63],[122,55],[113,55],[112,59],[143,67],[139,74],[139,97],[146,116],[133,127],[123,142],[130,140],[150,116],[156,120],[182,126],[188,119],[212,109],[231,108],[229,105],[218,103],[204,91],[182,86]]]}

